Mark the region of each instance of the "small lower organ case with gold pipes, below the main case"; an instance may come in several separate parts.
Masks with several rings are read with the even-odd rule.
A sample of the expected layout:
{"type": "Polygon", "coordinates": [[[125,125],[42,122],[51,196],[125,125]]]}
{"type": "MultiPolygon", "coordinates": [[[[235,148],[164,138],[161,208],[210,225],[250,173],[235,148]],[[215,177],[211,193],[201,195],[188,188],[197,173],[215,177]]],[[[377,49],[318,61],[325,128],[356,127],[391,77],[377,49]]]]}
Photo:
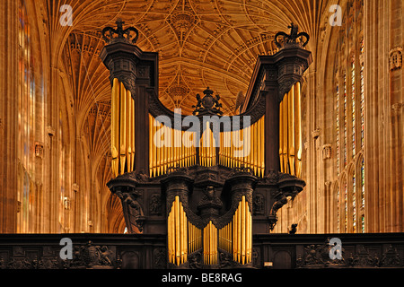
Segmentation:
{"type": "MultiPolygon", "coordinates": [[[[230,192],[235,199],[229,212],[224,217],[209,215],[203,221],[198,221],[198,215],[186,204],[186,198],[189,197],[186,182],[189,178],[180,170],[173,173],[173,178],[164,180],[171,198],[167,202],[170,211],[167,218],[169,262],[172,265],[182,265],[187,261],[187,256],[199,252],[205,265],[217,265],[220,252],[227,252],[233,256],[234,262],[240,265],[250,264],[252,213],[248,198],[251,199],[256,177],[243,171],[234,174],[229,178],[234,182],[230,192]]],[[[214,189],[212,187],[208,190],[214,189]]],[[[208,195],[200,202],[200,208],[218,206],[215,202],[220,199],[215,195],[215,191],[209,192],[208,195]]]]}

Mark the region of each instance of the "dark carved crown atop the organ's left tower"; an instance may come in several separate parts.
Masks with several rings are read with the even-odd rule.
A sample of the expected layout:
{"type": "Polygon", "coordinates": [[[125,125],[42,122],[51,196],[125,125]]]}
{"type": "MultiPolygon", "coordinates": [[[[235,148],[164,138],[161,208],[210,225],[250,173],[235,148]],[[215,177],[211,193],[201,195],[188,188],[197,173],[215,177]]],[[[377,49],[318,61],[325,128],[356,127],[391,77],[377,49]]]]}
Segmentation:
{"type": "Polygon", "coordinates": [[[127,42],[129,44],[135,44],[137,38],[139,37],[139,31],[134,27],[123,29],[124,23],[125,22],[119,18],[116,22],[117,29],[113,29],[112,27],[105,27],[102,29],[102,39],[109,44],[113,42],[127,42]],[[135,35],[133,35],[133,33],[135,33],[135,35]]]}

